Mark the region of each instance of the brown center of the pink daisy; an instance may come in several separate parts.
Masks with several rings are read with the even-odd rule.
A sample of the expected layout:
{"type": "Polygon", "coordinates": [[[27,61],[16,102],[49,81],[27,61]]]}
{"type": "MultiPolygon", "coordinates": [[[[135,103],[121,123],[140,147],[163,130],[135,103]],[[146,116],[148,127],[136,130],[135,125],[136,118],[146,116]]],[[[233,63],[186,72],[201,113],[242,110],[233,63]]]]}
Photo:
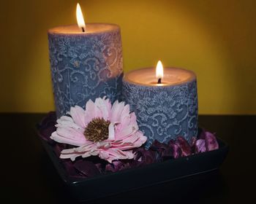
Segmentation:
{"type": "Polygon", "coordinates": [[[87,140],[97,142],[108,139],[108,126],[110,125],[109,120],[102,118],[94,118],[89,122],[84,130],[83,135],[87,140]]]}

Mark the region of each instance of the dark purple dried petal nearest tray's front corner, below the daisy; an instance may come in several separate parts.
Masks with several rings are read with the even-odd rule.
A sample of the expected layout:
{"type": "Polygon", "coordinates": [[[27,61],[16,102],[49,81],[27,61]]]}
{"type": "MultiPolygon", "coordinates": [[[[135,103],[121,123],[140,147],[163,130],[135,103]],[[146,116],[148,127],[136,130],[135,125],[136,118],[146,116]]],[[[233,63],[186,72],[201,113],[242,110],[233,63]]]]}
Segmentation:
{"type": "Polygon", "coordinates": [[[93,162],[89,162],[86,160],[78,160],[74,163],[74,168],[78,170],[78,173],[80,173],[83,176],[91,177],[98,175],[99,169],[96,165],[94,165],[93,162]]]}

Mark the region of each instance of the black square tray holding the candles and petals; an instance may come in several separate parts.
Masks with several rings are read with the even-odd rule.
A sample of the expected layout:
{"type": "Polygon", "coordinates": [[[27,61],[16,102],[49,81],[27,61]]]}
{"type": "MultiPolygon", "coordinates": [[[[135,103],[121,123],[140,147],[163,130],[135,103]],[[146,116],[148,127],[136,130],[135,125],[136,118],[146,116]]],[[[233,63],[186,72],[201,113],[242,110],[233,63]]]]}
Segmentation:
{"type": "Polygon", "coordinates": [[[224,141],[219,138],[217,140],[219,149],[211,152],[82,179],[69,178],[53,147],[44,140],[42,144],[72,197],[78,201],[86,201],[216,170],[225,160],[229,149],[224,141]],[[106,184],[111,185],[107,187],[106,184]]]}

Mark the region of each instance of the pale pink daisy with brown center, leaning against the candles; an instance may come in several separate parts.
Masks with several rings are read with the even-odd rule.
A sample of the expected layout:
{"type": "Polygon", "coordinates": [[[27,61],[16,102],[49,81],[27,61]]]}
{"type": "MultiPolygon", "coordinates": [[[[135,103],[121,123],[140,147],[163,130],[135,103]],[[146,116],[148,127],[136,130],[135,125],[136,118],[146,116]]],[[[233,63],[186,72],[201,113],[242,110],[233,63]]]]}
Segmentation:
{"type": "Polygon", "coordinates": [[[111,105],[107,98],[89,100],[86,110],[80,106],[70,109],[69,116],[57,120],[57,130],[50,138],[64,144],[78,146],[64,149],[62,159],[98,155],[103,160],[133,159],[133,148],[146,142],[146,136],[138,129],[135,113],[129,105],[116,101],[111,105]]]}

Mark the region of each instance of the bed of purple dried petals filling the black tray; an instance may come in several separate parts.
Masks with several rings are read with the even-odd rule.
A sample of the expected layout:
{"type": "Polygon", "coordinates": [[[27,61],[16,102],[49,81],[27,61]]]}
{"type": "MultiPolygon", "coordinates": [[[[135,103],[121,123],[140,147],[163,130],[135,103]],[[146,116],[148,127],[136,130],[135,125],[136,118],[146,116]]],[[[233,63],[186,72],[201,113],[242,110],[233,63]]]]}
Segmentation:
{"type": "MultiPolygon", "coordinates": [[[[57,155],[63,149],[72,148],[67,144],[55,143],[50,139],[51,133],[56,130],[56,114],[55,112],[50,112],[38,126],[39,136],[48,141],[53,145],[53,149],[57,155]]],[[[217,138],[214,134],[202,130],[199,136],[200,139],[192,138],[192,145],[181,136],[179,136],[176,141],[170,141],[168,144],[162,144],[159,141],[154,141],[154,144],[151,146],[151,149],[143,149],[140,147],[134,149],[135,153],[134,160],[116,160],[112,164],[103,162],[102,160],[94,160],[93,158],[77,160],[76,162],[71,162],[70,160],[61,160],[63,162],[68,176],[72,178],[87,178],[90,176],[95,176],[99,173],[104,172],[116,172],[118,170],[124,170],[127,168],[134,168],[141,165],[151,164],[163,160],[165,157],[184,157],[192,153],[206,152],[219,148],[217,143],[217,138]]]]}

